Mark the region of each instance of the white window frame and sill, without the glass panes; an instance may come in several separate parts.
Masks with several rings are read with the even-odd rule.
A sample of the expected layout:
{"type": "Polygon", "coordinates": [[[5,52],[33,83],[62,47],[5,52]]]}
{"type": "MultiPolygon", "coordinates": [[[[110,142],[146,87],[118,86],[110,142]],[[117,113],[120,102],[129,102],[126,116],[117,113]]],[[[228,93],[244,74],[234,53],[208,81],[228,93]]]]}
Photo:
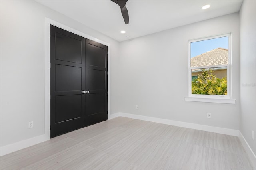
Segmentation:
{"type": "Polygon", "coordinates": [[[217,36],[209,36],[205,38],[198,38],[193,40],[188,40],[188,97],[185,97],[185,101],[198,101],[198,102],[210,102],[210,103],[229,103],[235,104],[235,99],[231,99],[232,93],[232,81],[231,81],[231,63],[232,63],[232,49],[231,49],[231,33],[221,34],[217,36]],[[198,42],[202,40],[209,40],[214,38],[221,38],[228,36],[228,64],[227,65],[211,65],[211,66],[202,66],[202,67],[191,67],[190,65],[190,55],[191,55],[191,43],[198,42]],[[215,67],[227,67],[227,95],[199,95],[192,94],[192,69],[208,69],[215,67]]]}

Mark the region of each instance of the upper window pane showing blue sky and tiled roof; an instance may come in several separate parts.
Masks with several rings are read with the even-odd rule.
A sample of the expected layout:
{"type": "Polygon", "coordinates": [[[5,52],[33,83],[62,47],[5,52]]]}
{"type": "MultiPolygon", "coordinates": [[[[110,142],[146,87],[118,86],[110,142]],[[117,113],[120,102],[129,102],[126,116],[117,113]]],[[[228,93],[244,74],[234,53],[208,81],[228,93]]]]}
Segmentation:
{"type": "Polygon", "coordinates": [[[190,43],[190,67],[228,64],[228,36],[190,43]]]}

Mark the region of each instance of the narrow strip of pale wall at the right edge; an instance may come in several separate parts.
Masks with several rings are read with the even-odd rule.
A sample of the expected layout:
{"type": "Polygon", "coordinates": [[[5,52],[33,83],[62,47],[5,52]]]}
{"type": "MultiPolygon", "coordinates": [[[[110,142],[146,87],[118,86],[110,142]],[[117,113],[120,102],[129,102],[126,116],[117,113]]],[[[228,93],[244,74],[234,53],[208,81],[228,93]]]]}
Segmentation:
{"type": "Polygon", "coordinates": [[[256,154],[256,2],[240,9],[240,132],[256,154]],[[252,130],[254,140],[252,140],[252,130]]]}

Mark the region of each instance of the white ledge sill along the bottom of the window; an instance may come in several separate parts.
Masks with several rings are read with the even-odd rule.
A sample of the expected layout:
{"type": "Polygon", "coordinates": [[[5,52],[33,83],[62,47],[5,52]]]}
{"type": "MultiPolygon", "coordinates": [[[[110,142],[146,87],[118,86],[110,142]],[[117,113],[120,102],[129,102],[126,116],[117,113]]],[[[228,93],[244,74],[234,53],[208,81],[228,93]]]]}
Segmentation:
{"type": "Polygon", "coordinates": [[[236,104],[236,99],[212,99],[212,98],[200,98],[200,97],[185,97],[185,101],[236,104]]]}

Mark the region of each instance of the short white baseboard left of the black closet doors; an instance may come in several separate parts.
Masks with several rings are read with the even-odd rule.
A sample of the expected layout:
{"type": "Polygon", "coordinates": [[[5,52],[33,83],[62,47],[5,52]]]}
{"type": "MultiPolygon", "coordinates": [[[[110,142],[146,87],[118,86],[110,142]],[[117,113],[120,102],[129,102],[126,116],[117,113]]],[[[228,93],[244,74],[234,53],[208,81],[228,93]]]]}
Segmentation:
{"type": "Polygon", "coordinates": [[[44,141],[46,141],[45,134],[36,136],[34,138],[22,140],[20,142],[16,142],[13,144],[8,144],[6,146],[2,146],[0,149],[0,156],[15,152],[17,150],[27,148],[29,146],[32,146],[32,145],[35,145],[35,144],[38,144],[38,143],[41,143],[44,141]]]}

